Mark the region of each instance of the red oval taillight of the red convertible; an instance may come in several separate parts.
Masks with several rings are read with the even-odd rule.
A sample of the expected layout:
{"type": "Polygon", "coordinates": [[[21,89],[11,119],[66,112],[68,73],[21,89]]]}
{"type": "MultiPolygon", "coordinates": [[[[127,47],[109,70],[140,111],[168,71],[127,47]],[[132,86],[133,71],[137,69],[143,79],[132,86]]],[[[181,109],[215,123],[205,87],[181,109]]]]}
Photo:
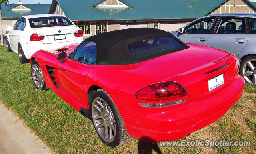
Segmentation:
{"type": "Polygon", "coordinates": [[[140,89],[135,94],[135,97],[137,99],[148,101],[162,101],[167,99],[176,99],[186,95],[188,95],[186,90],[178,83],[162,82],[140,89]]]}

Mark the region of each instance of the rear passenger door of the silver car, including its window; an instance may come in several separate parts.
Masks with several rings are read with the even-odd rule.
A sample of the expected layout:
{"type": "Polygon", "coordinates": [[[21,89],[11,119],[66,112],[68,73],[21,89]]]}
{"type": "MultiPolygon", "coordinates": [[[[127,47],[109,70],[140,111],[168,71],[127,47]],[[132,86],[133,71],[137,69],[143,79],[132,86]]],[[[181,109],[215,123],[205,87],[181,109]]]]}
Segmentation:
{"type": "Polygon", "coordinates": [[[216,32],[210,34],[207,45],[238,55],[247,41],[244,18],[222,17],[216,32]]]}

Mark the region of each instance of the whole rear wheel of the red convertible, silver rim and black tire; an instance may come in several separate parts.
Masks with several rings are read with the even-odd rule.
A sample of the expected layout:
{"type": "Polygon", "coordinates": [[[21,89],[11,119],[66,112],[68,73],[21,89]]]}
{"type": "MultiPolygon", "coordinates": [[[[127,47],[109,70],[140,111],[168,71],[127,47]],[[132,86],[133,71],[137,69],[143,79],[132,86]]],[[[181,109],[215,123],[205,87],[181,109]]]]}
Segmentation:
{"type": "Polygon", "coordinates": [[[114,101],[106,91],[99,89],[94,92],[90,109],[94,128],[104,144],[114,148],[132,140],[114,101]]]}

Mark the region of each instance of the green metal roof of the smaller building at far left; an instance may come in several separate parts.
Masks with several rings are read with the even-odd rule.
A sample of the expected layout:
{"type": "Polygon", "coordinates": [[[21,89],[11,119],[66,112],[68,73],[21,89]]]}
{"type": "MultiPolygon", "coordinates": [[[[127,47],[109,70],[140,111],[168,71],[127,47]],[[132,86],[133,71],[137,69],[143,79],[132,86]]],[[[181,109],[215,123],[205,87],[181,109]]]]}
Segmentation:
{"type": "Polygon", "coordinates": [[[22,17],[27,15],[34,15],[34,14],[47,14],[50,10],[50,4],[2,4],[2,17],[3,18],[14,18],[14,17],[22,17]],[[20,11],[15,10],[12,11],[12,8],[16,8],[17,6],[25,6],[31,10],[28,11],[20,11]]]}

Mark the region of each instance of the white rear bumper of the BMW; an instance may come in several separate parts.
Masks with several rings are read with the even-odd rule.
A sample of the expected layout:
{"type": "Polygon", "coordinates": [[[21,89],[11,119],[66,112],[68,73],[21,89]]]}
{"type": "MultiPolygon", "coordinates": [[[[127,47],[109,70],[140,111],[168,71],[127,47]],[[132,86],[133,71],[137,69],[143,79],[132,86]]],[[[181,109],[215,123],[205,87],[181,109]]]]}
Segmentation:
{"type": "Polygon", "coordinates": [[[69,42],[62,42],[62,43],[52,43],[52,44],[43,44],[41,41],[35,41],[30,42],[28,44],[22,44],[22,49],[24,52],[24,55],[27,59],[30,59],[30,57],[38,50],[53,50],[58,49],[61,47],[64,47],[66,45],[71,45],[75,43],[81,43],[84,39],[82,37],[78,37],[75,41],[69,41],[69,42]]]}

